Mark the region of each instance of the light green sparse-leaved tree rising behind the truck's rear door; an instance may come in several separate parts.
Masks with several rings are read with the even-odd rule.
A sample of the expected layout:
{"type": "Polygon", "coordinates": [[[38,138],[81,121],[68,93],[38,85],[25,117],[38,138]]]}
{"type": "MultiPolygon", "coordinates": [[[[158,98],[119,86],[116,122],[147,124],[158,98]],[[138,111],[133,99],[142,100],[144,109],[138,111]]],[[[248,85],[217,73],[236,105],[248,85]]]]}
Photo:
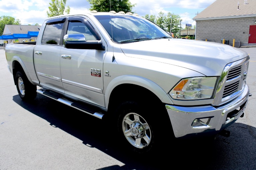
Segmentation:
{"type": "Polygon", "coordinates": [[[48,17],[54,17],[58,15],[63,15],[64,12],[69,14],[69,6],[65,7],[67,0],[51,0],[52,3],[49,3],[49,12],[46,11],[48,17]]]}

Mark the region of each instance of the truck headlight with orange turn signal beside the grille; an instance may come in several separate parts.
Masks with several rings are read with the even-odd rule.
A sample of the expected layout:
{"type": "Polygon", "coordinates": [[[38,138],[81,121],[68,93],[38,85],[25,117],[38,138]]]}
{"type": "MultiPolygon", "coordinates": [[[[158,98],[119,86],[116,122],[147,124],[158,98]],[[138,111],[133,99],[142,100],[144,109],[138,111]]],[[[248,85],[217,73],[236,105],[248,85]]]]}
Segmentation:
{"type": "Polygon", "coordinates": [[[173,99],[195,100],[214,97],[217,77],[194,77],[182,79],[169,92],[173,99]]]}

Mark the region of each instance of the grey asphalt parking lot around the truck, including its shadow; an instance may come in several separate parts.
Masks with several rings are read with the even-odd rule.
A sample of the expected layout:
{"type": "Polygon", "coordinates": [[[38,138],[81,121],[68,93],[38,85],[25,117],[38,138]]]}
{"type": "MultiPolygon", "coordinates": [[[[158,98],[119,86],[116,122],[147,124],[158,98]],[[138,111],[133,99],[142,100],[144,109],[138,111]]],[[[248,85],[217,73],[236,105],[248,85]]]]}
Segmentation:
{"type": "Polygon", "coordinates": [[[256,170],[256,48],[240,49],[250,56],[252,96],[230,137],[174,145],[163,136],[167,149],[150,159],[116,147],[111,124],[40,94],[22,101],[0,49],[0,170],[256,170]]]}

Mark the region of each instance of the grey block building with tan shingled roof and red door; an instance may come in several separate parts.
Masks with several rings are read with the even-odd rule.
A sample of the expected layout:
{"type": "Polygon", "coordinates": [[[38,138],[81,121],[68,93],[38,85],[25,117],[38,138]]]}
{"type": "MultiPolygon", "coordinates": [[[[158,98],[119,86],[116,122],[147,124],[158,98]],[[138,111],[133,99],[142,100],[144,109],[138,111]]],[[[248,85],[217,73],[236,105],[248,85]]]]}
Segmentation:
{"type": "Polygon", "coordinates": [[[195,36],[205,40],[239,46],[256,45],[256,0],[216,0],[193,20],[195,36]]]}

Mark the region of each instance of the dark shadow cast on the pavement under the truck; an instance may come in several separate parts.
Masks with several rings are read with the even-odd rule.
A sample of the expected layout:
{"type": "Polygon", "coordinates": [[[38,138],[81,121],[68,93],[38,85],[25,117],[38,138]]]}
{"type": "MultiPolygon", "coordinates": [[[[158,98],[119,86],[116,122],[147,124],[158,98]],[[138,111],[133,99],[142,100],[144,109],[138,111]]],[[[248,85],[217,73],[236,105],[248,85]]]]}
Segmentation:
{"type": "Polygon", "coordinates": [[[118,145],[118,139],[111,129],[112,122],[87,115],[65,104],[37,94],[32,102],[24,102],[18,95],[13,101],[32,114],[80,139],[86,147],[94,147],[114,159],[124,163],[100,170],[162,170],[162,169],[213,169],[256,170],[256,128],[242,123],[234,123],[227,130],[230,137],[217,135],[214,141],[209,140],[177,140],[170,141],[168,130],[163,136],[165,150],[151,155],[135,156],[129,154],[118,145]],[[150,158],[148,158],[150,157],[150,158]]]}

